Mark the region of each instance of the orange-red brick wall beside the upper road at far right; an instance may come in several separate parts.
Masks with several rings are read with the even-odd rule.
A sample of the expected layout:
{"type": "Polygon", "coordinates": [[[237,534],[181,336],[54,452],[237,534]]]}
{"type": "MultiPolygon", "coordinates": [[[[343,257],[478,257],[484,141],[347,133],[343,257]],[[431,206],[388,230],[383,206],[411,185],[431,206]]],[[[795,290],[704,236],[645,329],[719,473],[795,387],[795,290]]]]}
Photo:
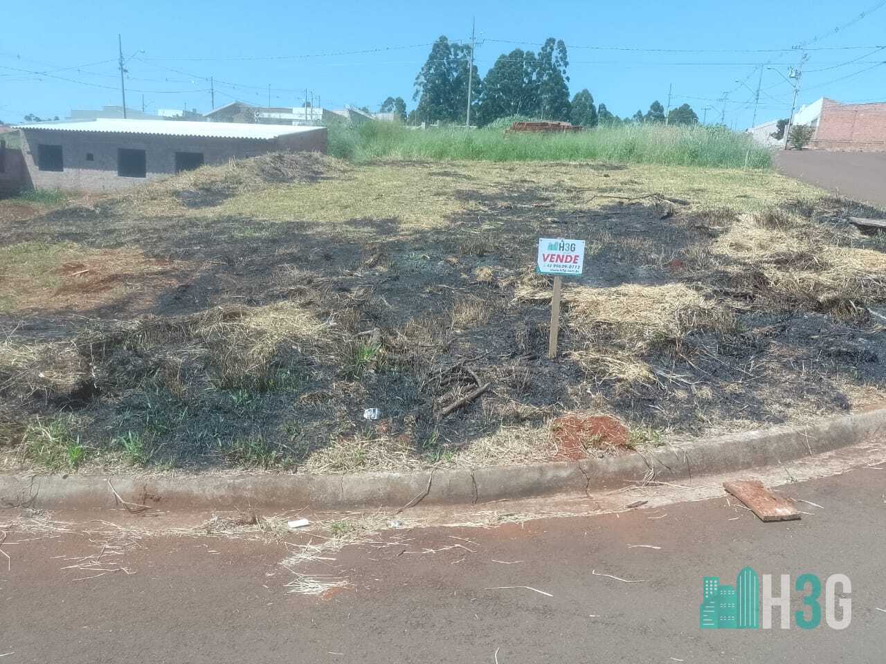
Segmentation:
{"type": "Polygon", "coordinates": [[[812,147],[886,150],[886,104],[840,104],[825,99],[812,147]]]}

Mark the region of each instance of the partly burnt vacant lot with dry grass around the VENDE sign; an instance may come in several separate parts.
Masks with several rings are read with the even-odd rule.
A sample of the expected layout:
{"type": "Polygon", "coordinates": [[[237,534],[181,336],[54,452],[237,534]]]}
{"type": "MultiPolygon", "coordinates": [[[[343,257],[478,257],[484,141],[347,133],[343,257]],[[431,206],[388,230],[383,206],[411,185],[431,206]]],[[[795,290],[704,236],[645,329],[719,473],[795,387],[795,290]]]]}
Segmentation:
{"type": "Polygon", "coordinates": [[[883,398],[850,212],[882,216],[760,171],[291,156],[0,202],[0,462],[482,465],[841,413],[883,398]],[[587,241],[555,361],[539,236],[587,241]]]}

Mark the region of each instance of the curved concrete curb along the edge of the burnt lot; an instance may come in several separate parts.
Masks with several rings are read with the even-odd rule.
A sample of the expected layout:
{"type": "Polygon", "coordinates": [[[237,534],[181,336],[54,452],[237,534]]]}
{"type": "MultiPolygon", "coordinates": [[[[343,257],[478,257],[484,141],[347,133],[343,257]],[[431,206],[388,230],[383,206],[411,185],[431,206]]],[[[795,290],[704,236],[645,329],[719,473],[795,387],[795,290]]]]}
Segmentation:
{"type": "Polygon", "coordinates": [[[502,498],[586,494],[644,481],[766,467],[859,444],[886,428],[886,408],[799,428],[674,443],[643,454],[525,466],[355,475],[0,475],[0,506],[111,509],[116,498],[160,510],[286,510],[464,505],[502,498]]]}

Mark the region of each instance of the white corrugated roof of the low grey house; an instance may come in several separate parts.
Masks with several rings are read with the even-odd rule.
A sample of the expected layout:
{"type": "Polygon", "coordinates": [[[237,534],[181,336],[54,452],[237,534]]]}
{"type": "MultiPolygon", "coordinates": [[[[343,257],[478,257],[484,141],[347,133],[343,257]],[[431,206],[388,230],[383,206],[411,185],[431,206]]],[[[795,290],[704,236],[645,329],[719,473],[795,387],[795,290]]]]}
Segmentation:
{"type": "Polygon", "coordinates": [[[19,125],[21,129],[48,131],[99,132],[102,134],[148,134],[162,136],[200,136],[206,138],[252,138],[270,141],[277,136],[299,134],[321,127],[294,127],[289,125],[250,125],[241,122],[188,122],[177,120],[98,120],[38,122],[19,125]]]}

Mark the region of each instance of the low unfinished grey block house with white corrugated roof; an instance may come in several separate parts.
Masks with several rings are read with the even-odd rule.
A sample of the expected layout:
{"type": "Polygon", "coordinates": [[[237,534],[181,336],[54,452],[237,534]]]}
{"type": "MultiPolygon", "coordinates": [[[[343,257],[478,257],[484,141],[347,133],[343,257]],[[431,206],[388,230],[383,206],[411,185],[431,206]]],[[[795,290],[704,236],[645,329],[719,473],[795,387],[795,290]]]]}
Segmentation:
{"type": "Polygon", "coordinates": [[[36,189],[105,190],[276,151],[326,151],[325,127],[98,119],[19,127],[36,189]]]}

